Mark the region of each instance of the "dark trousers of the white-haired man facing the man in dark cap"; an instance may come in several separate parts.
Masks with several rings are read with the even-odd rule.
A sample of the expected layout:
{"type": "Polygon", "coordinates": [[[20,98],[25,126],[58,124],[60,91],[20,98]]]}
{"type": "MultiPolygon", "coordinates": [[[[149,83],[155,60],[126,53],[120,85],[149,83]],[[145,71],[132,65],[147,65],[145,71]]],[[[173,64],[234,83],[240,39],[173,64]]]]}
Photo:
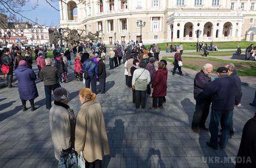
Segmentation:
{"type": "Polygon", "coordinates": [[[192,129],[198,129],[198,127],[205,127],[205,122],[209,114],[211,102],[196,101],[195,113],[192,120],[192,129]]]}

